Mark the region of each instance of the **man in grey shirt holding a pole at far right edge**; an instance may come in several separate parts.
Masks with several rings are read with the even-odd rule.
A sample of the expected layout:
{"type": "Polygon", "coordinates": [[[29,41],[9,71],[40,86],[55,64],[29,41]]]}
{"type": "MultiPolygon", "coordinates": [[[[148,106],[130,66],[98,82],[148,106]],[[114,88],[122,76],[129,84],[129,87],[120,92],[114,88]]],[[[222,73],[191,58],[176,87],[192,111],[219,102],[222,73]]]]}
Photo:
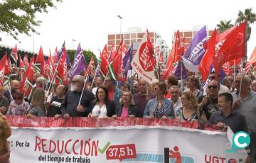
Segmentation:
{"type": "Polygon", "coordinates": [[[245,116],[250,134],[250,159],[256,159],[256,93],[250,91],[250,77],[238,74],[235,77],[235,88],[238,91],[232,93],[234,102],[233,109],[245,116]],[[242,82],[242,83],[241,83],[242,82]]]}

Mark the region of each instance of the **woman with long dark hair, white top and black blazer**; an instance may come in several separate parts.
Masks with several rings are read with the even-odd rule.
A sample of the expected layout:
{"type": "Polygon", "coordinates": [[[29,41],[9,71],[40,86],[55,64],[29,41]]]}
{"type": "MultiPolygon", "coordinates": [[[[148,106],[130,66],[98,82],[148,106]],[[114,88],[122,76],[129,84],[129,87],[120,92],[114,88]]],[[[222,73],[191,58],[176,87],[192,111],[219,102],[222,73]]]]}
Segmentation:
{"type": "Polygon", "coordinates": [[[92,101],[92,113],[89,114],[91,118],[107,118],[115,114],[115,104],[109,100],[109,94],[105,87],[100,86],[96,91],[96,99],[92,101]]]}

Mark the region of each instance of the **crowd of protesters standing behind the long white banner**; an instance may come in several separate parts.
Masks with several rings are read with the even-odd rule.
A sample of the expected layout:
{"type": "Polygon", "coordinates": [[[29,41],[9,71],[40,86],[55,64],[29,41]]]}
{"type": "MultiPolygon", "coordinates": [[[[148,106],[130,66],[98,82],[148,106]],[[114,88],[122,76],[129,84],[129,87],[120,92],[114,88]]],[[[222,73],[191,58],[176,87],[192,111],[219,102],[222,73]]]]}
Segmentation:
{"type": "MultiPolygon", "coordinates": [[[[202,84],[201,77],[195,74],[182,81],[174,76],[166,80],[156,79],[154,84],[148,84],[137,74],[124,83],[100,75],[86,80],[81,75],[75,75],[69,79],[68,85],[56,86],[36,73],[33,91],[28,98],[18,90],[20,73],[14,69],[9,86],[0,86],[0,116],[198,120],[217,125],[220,130],[229,126],[234,133],[249,133],[250,156],[255,158],[255,74],[228,75],[219,81],[212,72],[207,84],[202,84]]],[[[0,133],[3,133],[4,121],[1,119],[0,125],[0,133]]],[[[4,145],[0,145],[0,152],[2,148],[4,145]]]]}

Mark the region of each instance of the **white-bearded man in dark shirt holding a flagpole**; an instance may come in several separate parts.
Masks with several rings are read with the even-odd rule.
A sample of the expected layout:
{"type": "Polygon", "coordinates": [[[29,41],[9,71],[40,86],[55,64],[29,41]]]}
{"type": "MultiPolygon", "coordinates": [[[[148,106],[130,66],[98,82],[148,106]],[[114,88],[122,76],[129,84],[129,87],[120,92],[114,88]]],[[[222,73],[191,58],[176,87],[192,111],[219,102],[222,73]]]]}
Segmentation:
{"type": "Polygon", "coordinates": [[[60,107],[63,118],[85,117],[91,112],[90,103],[95,96],[87,89],[84,89],[82,93],[84,86],[85,79],[80,75],[75,75],[71,81],[70,91],[65,94],[65,100],[60,107]]]}

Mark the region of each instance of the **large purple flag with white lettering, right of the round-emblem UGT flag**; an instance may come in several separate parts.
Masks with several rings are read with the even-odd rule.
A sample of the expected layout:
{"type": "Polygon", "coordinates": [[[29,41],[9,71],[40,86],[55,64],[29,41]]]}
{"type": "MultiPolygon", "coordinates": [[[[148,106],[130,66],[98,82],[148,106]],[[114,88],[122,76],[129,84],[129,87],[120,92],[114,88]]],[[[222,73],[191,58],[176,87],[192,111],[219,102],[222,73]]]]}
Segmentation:
{"type": "Polygon", "coordinates": [[[203,55],[206,53],[207,36],[206,26],[201,28],[191,40],[188,49],[182,56],[183,64],[190,72],[199,72],[198,65],[200,64],[203,55]]]}

